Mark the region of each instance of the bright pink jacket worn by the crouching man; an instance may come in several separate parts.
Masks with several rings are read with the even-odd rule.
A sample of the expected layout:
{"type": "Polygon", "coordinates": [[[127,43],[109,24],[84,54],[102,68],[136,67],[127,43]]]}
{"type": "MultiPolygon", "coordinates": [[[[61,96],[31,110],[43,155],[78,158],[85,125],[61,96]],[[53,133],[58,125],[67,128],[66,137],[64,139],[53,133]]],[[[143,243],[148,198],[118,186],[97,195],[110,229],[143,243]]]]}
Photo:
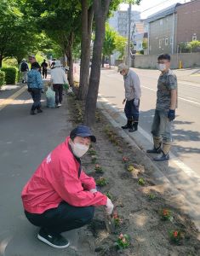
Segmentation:
{"type": "Polygon", "coordinates": [[[22,201],[27,212],[43,213],[66,201],[74,207],[103,206],[107,197],[95,188],[93,177],[83,170],[78,178],[80,164],[71,153],[69,137],[43,160],[22,190],[22,201]]]}

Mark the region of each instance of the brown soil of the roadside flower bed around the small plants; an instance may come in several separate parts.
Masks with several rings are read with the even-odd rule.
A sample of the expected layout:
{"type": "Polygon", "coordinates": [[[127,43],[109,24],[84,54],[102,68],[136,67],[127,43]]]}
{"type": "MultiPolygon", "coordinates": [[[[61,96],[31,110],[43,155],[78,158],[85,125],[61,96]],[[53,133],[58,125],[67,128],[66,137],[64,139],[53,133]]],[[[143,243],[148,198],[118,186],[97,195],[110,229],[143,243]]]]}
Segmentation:
{"type": "MultiPolygon", "coordinates": [[[[67,96],[67,106],[71,121],[81,124],[83,102],[77,102],[76,96],[67,96]]],[[[109,192],[123,223],[116,227],[114,233],[109,233],[106,230],[104,207],[96,207],[92,223],[84,229],[89,244],[93,245],[94,255],[200,255],[199,233],[191,219],[176,208],[174,201],[169,200],[168,191],[163,192],[162,185],[154,182],[151,172],[145,169],[143,163],[134,160],[134,148],[117,135],[108,120],[100,113],[96,114],[96,119],[93,131],[97,143],[93,148],[96,163],[100,164],[104,173],[95,172],[90,154],[83,157],[83,169],[95,179],[106,178],[106,186],[98,189],[105,194],[109,192]],[[129,165],[123,163],[123,156],[129,158],[129,165],[134,166],[134,171],[127,171],[129,165]],[[138,183],[140,177],[145,180],[143,186],[138,183]],[[173,218],[162,220],[162,209],[169,209],[173,218]],[[177,244],[169,239],[169,231],[172,230],[180,230],[182,234],[177,244]],[[116,246],[121,233],[130,237],[130,246],[126,249],[117,249],[116,246]]]]}

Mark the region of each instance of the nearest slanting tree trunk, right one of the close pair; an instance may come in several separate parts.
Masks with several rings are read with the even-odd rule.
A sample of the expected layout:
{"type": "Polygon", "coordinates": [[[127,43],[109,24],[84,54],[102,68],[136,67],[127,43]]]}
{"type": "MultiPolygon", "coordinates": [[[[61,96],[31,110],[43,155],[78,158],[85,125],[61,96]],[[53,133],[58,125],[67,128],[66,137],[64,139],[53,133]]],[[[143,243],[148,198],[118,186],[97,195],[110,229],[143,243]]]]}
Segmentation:
{"type": "Polygon", "coordinates": [[[96,101],[100,84],[100,64],[103,41],[105,38],[106,16],[111,0],[94,0],[95,39],[92,67],[89,78],[89,91],[85,106],[85,125],[94,125],[96,101]]]}

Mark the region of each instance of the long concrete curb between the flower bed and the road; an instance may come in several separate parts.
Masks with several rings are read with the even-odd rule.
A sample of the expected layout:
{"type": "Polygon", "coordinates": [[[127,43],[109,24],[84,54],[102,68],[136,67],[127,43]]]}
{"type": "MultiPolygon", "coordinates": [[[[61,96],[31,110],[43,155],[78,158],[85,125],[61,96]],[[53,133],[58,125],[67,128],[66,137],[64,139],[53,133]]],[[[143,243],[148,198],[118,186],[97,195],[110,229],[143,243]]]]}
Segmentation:
{"type": "Polygon", "coordinates": [[[129,143],[129,145],[132,147],[132,150],[134,152],[134,159],[137,160],[139,163],[142,163],[142,165],[146,168],[147,172],[151,175],[151,177],[154,178],[154,182],[156,185],[162,185],[163,191],[168,191],[168,193],[170,194],[169,199],[176,203],[176,207],[181,208],[183,212],[190,216],[190,218],[196,225],[197,230],[200,231],[200,219],[194,214],[195,211],[190,201],[187,201],[186,197],[182,195],[178,189],[174,188],[174,185],[170,183],[169,178],[164,176],[163,172],[161,172],[161,170],[142,150],[140,144],[138,142],[135,142],[134,136],[121,129],[123,121],[117,109],[110,106],[108,102],[103,102],[100,95],[97,102],[97,108],[100,109],[101,113],[103,113],[111,126],[115,128],[117,134],[120,137],[123,137],[124,141],[126,143],[129,143]]]}

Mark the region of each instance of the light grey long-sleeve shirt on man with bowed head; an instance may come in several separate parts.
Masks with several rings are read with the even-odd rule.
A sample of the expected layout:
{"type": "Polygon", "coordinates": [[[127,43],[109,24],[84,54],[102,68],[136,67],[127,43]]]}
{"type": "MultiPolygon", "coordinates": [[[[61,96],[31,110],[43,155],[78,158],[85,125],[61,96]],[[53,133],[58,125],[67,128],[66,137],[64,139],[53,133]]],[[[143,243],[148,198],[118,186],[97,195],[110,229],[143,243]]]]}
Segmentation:
{"type": "Polygon", "coordinates": [[[123,77],[124,88],[125,88],[125,98],[128,101],[133,99],[140,99],[141,88],[140,88],[140,79],[138,75],[129,69],[129,72],[126,76],[123,77]]]}

